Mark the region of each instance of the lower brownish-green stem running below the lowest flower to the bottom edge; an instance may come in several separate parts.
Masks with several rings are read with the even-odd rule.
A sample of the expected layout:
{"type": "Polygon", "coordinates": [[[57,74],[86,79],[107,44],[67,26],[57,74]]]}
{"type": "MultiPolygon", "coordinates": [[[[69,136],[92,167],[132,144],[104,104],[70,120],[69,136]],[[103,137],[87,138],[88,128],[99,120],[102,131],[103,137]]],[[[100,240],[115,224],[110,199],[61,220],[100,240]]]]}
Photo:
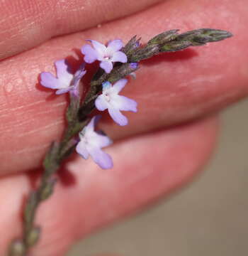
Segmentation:
{"type": "MultiPolygon", "coordinates": [[[[44,161],[44,171],[40,180],[40,184],[35,191],[32,191],[28,196],[26,207],[23,215],[23,238],[21,239],[23,250],[21,256],[26,256],[28,249],[38,242],[38,237],[36,238],[33,233],[37,230],[35,227],[35,214],[44,200],[52,195],[53,187],[55,185],[54,174],[60,168],[61,162],[72,152],[76,142],[72,142],[71,138],[77,134],[79,129],[84,127],[84,123],[74,122],[73,126],[68,126],[62,141],[60,144],[52,144],[50,151],[48,151],[47,156],[44,161]]],[[[40,230],[40,229],[39,229],[40,230]]],[[[39,236],[39,234],[37,234],[39,236]]],[[[14,245],[16,241],[13,241],[14,245]]],[[[19,242],[19,241],[18,241],[19,242]]],[[[13,246],[12,246],[13,247],[13,246]]],[[[11,250],[9,255],[14,255],[11,250]]]]}

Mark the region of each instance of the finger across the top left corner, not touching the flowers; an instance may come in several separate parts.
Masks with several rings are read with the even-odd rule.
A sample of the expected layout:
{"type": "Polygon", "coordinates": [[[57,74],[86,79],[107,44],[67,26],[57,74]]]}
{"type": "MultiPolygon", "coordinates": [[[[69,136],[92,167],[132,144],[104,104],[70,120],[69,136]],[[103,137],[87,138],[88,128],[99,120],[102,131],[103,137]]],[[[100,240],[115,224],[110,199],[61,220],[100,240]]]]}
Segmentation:
{"type": "MultiPolygon", "coordinates": [[[[161,1],[161,0],[160,0],[161,1]]],[[[53,36],[81,31],[147,8],[159,0],[1,1],[0,59],[53,36]]]]}

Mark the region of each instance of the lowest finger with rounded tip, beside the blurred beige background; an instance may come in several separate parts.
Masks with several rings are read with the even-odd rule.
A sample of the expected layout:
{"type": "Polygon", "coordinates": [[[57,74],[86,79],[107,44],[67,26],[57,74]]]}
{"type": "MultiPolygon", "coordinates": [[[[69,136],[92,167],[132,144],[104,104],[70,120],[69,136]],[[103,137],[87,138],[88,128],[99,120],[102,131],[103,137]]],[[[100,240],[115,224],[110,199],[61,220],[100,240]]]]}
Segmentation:
{"type": "MultiPolygon", "coordinates": [[[[63,255],[77,238],[181,186],[205,164],[215,135],[215,119],[205,119],[115,143],[108,150],[115,163],[111,170],[79,157],[69,162],[65,168],[74,182],[60,179],[55,194],[38,209],[35,222],[43,233],[32,255],[63,255]]],[[[21,205],[29,190],[25,174],[0,180],[0,229],[8,231],[0,240],[0,255],[20,233],[21,205]]]]}

